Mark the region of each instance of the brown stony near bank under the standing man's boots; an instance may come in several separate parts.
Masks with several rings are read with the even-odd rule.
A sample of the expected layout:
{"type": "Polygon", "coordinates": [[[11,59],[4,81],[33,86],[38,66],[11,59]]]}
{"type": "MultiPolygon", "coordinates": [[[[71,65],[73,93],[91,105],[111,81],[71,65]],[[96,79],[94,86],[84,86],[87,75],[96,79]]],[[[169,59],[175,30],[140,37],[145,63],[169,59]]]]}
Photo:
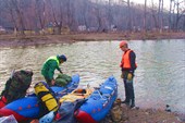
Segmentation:
{"type": "Polygon", "coordinates": [[[113,119],[110,113],[101,123],[185,123],[185,114],[164,110],[139,109],[138,107],[130,109],[125,104],[121,106],[121,120],[113,119]]]}

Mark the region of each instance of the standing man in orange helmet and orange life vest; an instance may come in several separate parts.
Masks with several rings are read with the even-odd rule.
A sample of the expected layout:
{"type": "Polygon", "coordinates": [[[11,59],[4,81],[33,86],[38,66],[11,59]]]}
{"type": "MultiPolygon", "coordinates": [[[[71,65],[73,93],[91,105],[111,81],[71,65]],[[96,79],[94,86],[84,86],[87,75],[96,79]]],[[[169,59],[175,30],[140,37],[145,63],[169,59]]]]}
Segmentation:
{"type": "Polygon", "coordinates": [[[122,61],[120,67],[122,69],[122,75],[125,87],[125,100],[122,103],[126,103],[130,108],[135,107],[135,95],[134,95],[134,71],[136,70],[136,54],[133,50],[128,48],[126,41],[120,42],[120,49],[124,52],[122,56],[122,61]]]}

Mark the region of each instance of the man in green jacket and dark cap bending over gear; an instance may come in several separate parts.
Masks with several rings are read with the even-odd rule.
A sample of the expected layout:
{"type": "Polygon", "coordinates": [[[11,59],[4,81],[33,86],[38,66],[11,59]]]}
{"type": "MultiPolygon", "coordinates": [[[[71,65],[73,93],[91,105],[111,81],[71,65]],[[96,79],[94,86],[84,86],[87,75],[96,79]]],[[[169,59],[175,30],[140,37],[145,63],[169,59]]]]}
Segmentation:
{"type": "Polygon", "coordinates": [[[41,74],[44,75],[49,86],[53,86],[55,83],[53,78],[55,69],[60,73],[62,73],[59,65],[65,61],[66,61],[66,57],[64,54],[50,57],[45,61],[42,69],[41,69],[41,74]]]}

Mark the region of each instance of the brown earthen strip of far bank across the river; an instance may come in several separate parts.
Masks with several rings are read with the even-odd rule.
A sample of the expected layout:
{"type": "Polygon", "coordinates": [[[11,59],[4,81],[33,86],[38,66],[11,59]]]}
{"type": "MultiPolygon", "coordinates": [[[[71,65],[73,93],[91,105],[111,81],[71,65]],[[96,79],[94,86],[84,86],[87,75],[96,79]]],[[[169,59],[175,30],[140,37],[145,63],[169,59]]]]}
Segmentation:
{"type": "Polygon", "coordinates": [[[185,39],[185,33],[71,33],[63,35],[0,35],[0,47],[72,44],[76,41],[104,40],[161,40],[185,39]]]}

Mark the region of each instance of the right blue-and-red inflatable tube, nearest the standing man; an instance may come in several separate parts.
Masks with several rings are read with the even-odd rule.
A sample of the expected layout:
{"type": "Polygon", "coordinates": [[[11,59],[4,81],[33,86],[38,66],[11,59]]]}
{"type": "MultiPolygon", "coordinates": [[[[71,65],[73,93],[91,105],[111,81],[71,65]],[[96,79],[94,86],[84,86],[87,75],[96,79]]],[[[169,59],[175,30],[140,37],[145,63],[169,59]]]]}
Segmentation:
{"type": "Polygon", "coordinates": [[[109,113],[118,97],[118,84],[113,76],[110,76],[88,100],[75,112],[79,123],[98,123],[109,113]]]}

